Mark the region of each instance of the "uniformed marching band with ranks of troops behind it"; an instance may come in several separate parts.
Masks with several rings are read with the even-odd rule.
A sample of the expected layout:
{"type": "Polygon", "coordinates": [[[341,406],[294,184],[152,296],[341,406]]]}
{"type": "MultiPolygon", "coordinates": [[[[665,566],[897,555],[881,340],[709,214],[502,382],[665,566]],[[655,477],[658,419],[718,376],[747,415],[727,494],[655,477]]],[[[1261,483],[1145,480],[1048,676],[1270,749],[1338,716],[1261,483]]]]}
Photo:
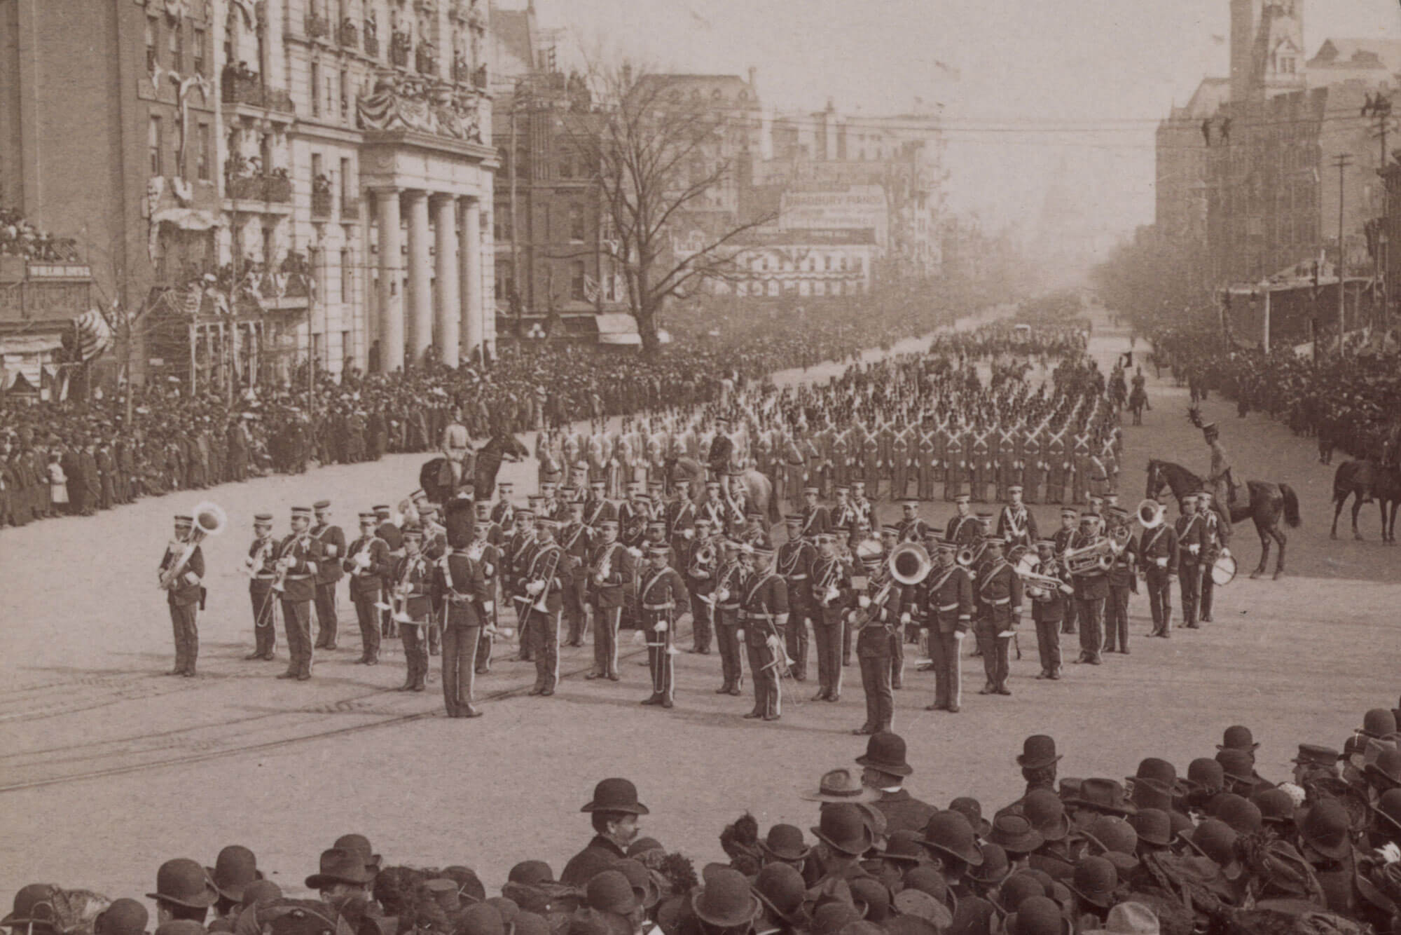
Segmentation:
{"type": "MultiPolygon", "coordinates": [[[[531,694],[549,697],[560,642],[580,646],[591,631],[587,678],[618,681],[619,629],[636,628],[651,669],[643,704],[670,708],[677,627],[689,615],[688,652],[709,655],[713,639],[720,656],[717,694],[741,694],[748,669],[752,718],[782,715],[785,681],[806,681],[810,656],[813,699],[838,701],[855,655],[867,699],[856,733],[876,733],[892,725],[909,643],[923,648],[922,669],[934,673],[929,709],[957,712],[960,641],[975,635],[979,694],[1010,695],[1010,655],[1020,657],[1028,607],[1037,677],[1048,680],[1062,676],[1062,634],[1079,635],[1079,663],[1129,652],[1128,606],[1140,578],[1150,635],[1171,634],[1174,579],[1182,624],[1209,621],[1209,569],[1227,537],[1210,493],[1187,498],[1174,524],[1161,509],[1135,517],[1119,506],[1124,370],[1105,378],[1083,343],[1063,352],[1051,385],[1035,391],[1028,363],[995,360],[985,387],[972,355],[951,360],[943,348],[853,366],[821,385],[751,387],[724,411],[653,421],[646,442],[633,421],[587,439],[544,432],[539,492],[525,503],[504,481],[495,500],[476,498],[472,449],[454,423],[443,450],[455,479],[443,507],[423,492],[399,503],[398,516],[378,505],[359,514],[350,541],[328,500],[294,507],[283,538],[272,535],[270,514],[255,517],[248,659],[272,659],[280,611],[291,656],[280,677],[308,680],[312,652],[336,648],[336,589],[349,576],[359,662],[377,664],[381,639],[398,635],[402,690],[423,691],[429,656],[443,653],[453,716],[479,714],[474,677],[490,671],[495,641],[514,631],[518,657],[535,663],[531,694]],[[637,457],[658,450],[668,453],[660,464],[637,457]],[[919,517],[920,498],[905,498],[911,479],[922,499],[941,482],[954,502],[941,530],[919,517]],[[883,484],[902,512],[888,524],[873,503],[883,484]],[[991,492],[1005,500],[1000,510],[975,512],[991,492]],[[1027,509],[1040,499],[1066,503],[1049,535],[1027,509]],[[1070,505],[1080,499],[1083,513],[1070,505]],[[780,502],[792,512],[775,548],[769,517],[780,502]],[[922,550],[916,578],[894,568],[904,544],[922,550]]],[[[186,530],[177,528],[163,571],[181,555],[186,530]]],[[[170,590],[179,674],[195,673],[198,652],[203,561],[193,552],[184,585],[170,590]]]]}

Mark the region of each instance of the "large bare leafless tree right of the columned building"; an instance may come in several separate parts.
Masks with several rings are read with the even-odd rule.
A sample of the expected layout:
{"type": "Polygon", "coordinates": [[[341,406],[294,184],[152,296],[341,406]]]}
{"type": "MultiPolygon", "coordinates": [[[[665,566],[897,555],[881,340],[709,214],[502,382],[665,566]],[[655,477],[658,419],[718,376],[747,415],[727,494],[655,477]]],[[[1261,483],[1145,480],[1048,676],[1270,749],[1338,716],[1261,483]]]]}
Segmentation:
{"type": "Polygon", "coordinates": [[[628,64],[595,69],[593,84],[598,104],[570,111],[566,126],[597,172],[608,228],[600,252],[622,271],[628,311],[643,353],[653,356],[665,301],[705,280],[733,279],[743,236],[776,216],[744,217],[710,203],[737,178],[726,136],[744,129],[750,118],[743,111],[681,95],[668,76],[635,73],[628,64]],[[685,244],[677,240],[682,227],[685,244]]]}

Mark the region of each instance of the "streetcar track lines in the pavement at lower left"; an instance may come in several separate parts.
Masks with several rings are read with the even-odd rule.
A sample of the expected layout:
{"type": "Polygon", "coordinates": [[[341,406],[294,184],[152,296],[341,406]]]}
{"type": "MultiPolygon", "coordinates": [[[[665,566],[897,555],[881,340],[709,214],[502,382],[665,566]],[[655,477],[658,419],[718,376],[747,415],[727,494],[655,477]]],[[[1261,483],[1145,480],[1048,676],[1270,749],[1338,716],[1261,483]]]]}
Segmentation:
{"type": "MultiPolygon", "coordinates": [[[[681,636],[684,636],[684,635],[685,635],[684,631],[678,631],[677,632],[677,639],[679,641],[681,636]]],[[[646,652],[647,652],[646,649],[633,649],[632,652],[619,653],[619,659],[636,659],[636,657],[644,655],[646,652]]],[[[579,666],[576,669],[572,669],[567,673],[560,673],[559,680],[565,681],[566,678],[573,678],[576,676],[580,676],[580,674],[588,671],[590,669],[593,669],[593,659],[591,657],[587,659],[586,664],[581,664],[581,666],[579,666]]],[[[381,694],[388,694],[389,691],[395,691],[395,690],[392,690],[392,688],[377,690],[377,691],[373,691],[373,692],[367,692],[366,695],[360,695],[359,698],[364,699],[364,698],[370,698],[370,697],[375,697],[375,695],[381,695],[381,694]]],[[[483,701],[483,702],[486,702],[486,701],[502,701],[502,699],[511,698],[511,697],[516,697],[516,695],[523,695],[527,691],[528,691],[528,685],[525,685],[525,684],[516,685],[516,687],[511,687],[511,688],[499,688],[497,691],[493,691],[493,692],[489,692],[486,695],[482,695],[479,698],[479,701],[483,701]]],[[[347,699],[343,699],[343,701],[356,701],[356,699],[354,698],[347,698],[347,699]]],[[[324,708],[338,708],[340,704],[342,702],[326,702],[325,705],[321,705],[321,707],[324,707],[324,708]]],[[[301,709],[269,712],[266,715],[252,715],[249,718],[240,719],[238,722],[227,722],[227,723],[262,721],[265,718],[283,716],[283,715],[290,715],[290,714],[304,714],[304,712],[301,709]]],[[[336,712],[336,714],[346,714],[346,712],[336,712]]],[[[333,716],[333,714],[322,714],[322,715],[318,715],[318,716],[319,718],[331,718],[331,716],[333,716]]],[[[186,749],[189,751],[184,753],[181,756],[165,757],[165,758],[160,758],[160,760],[142,761],[142,763],[126,763],[126,764],[119,764],[119,765],[112,765],[112,767],[105,767],[105,768],[97,768],[97,770],[88,770],[88,771],[84,771],[84,772],[73,772],[73,774],[66,774],[66,775],[56,775],[56,777],[50,775],[50,777],[41,777],[41,778],[35,778],[35,779],[22,779],[22,781],[18,781],[18,782],[6,782],[6,784],[0,784],[0,793],[6,793],[6,792],[22,792],[25,789],[39,789],[39,788],[45,788],[45,786],[53,786],[53,785],[66,785],[66,784],[70,784],[70,782],[83,782],[83,781],[87,781],[87,779],[101,779],[101,778],[113,777],[113,775],[125,775],[125,774],[129,774],[129,772],[140,772],[143,770],[158,770],[158,768],[164,768],[164,767],[177,767],[177,765],[188,765],[188,764],[193,764],[193,763],[205,763],[205,761],[209,761],[209,760],[217,760],[217,758],[221,758],[221,757],[237,756],[237,754],[241,754],[241,753],[256,753],[256,751],[262,751],[262,750],[276,750],[279,747],[287,747],[287,746],[293,746],[293,744],[297,744],[297,743],[307,743],[307,742],[314,742],[314,740],[322,740],[325,737],[335,737],[335,736],[346,736],[346,735],[352,735],[352,733],[361,733],[361,732],[366,732],[366,730],[377,730],[380,728],[388,728],[388,726],[401,725],[401,723],[410,723],[410,722],[415,722],[415,721],[422,721],[425,718],[434,718],[434,716],[443,716],[443,711],[439,707],[434,707],[433,709],[429,709],[429,711],[410,711],[410,712],[403,712],[403,714],[384,715],[384,716],[380,716],[377,721],[371,722],[371,723],[345,725],[345,726],[339,726],[339,728],[331,728],[328,730],[315,730],[315,732],[311,732],[311,733],[301,733],[301,735],[297,735],[297,736],[293,736],[293,737],[277,737],[277,739],[272,739],[272,740],[261,740],[261,742],[256,742],[256,743],[245,743],[245,744],[241,744],[241,746],[223,746],[223,744],[227,743],[227,740],[228,740],[227,737],[223,737],[223,739],[220,739],[220,737],[196,739],[196,740],[185,742],[184,744],[175,743],[175,744],[167,744],[167,746],[157,746],[157,747],[153,747],[153,749],[146,750],[146,751],[129,751],[127,754],[125,754],[125,756],[142,756],[143,753],[161,753],[163,750],[167,750],[167,749],[181,749],[184,746],[184,749],[186,749]],[[219,747],[219,749],[213,749],[213,747],[219,747]]],[[[202,728],[181,728],[181,729],[175,729],[175,730],[156,732],[156,733],[142,735],[142,736],[137,736],[137,737],[133,737],[133,739],[127,739],[126,743],[139,743],[142,740],[158,739],[158,737],[163,737],[163,736],[174,736],[174,735],[189,732],[189,730],[207,729],[210,726],[219,728],[221,725],[203,725],[202,728]]],[[[104,744],[104,743],[113,743],[113,742],[111,742],[111,740],[98,740],[98,742],[94,742],[94,744],[87,744],[87,746],[95,746],[95,744],[104,744]]],[[[118,743],[120,743],[120,742],[118,742],[118,743]]],[[[83,746],[84,744],[70,744],[71,749],[83,749],[83,746]]],[[[25,754],[17,754],[17,756],[25,756],[25,754]]],[[[31,753],[29,756],[35,756],[35,754],[31,753]]],[[[118,754],[113,754],[113,756],[123,756],[123,754],[118,753],[118,754]]],[[[63,763],[70,763],[70,761],[83,760],[83,758],[85,758],[85,757],[73,757],[73,758],[66,758],[66,760],[52,760],[52,761],[46,761],[46,763],[36,763],[34,765],[35,767],[59,765],[59,764],[63,764],[63,763]]]]}

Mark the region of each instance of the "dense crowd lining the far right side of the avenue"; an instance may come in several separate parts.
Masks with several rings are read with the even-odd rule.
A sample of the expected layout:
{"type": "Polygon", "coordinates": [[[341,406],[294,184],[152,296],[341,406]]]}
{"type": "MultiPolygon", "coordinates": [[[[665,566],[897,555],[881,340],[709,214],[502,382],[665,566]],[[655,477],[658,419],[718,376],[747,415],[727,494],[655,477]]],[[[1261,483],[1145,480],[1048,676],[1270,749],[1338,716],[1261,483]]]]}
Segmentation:
{"type": "Polygon", "coordinates": [[[1212,391],[1244,418],[1268,412],[1296,435],[1316,436],[1320,458],[1394,460],[1401,370],[1397,355],[1304,356],[1293,348],[1240,348],[1216,329],[1163,328],[1152,335],[1154,362],[1194,402],[1212,391]],[[1390,449],[1388,449],[1390,442],[1390,449]]]}

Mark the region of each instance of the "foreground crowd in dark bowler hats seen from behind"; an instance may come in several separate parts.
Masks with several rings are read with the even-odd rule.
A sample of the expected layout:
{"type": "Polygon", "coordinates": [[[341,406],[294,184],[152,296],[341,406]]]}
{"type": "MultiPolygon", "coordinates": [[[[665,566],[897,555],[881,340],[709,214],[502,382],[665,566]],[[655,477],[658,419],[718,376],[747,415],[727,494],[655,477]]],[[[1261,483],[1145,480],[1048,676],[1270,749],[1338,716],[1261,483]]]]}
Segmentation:
{"type": "MultiPolygon", "coordinates": [[[[1061,775],[1052,737],[1016,757],[1024,793],[922,798],[905,740],[871,736],[850,765],[808,777],[804,830],[745,812],[705,841],[646,837],[653,812],[625,778],[594,786],[565,855],[513,855],[499,894],[471,869],[420,868],[360,833],[294,868],[233,844],[160,865],[147,903],[31,883],[0,925],[24,935],[1188,935],[1401,931],[1397,711],[1367,711],[1342,749],[1303,743],[1281,784],[1255,770],[1247,726],[1185,774],[1147,756],[1125,781],[1061,775]],[[991,805],[991,803],[988,803],[991,805]],[[546,859],[549,858],[549,859],[546,859]],[[312,865],[304,868],[312,871],[312,865]],[[275,883],[276,875],[282,883],[275,883]],[[286,887],[286,889],[284,889],[286,887]]],[[[855,753],[855,751],[853,751],[855,753]]],[[[653,789],[643,796],[667,791],[653,789]]],[[[743,796],[741,796],[743,799],[743,796]]],[[[462,816],[469,819],[471,810],[462,816]]],[[[560,816],[565,817],[563,814],[560,816]]]]}

